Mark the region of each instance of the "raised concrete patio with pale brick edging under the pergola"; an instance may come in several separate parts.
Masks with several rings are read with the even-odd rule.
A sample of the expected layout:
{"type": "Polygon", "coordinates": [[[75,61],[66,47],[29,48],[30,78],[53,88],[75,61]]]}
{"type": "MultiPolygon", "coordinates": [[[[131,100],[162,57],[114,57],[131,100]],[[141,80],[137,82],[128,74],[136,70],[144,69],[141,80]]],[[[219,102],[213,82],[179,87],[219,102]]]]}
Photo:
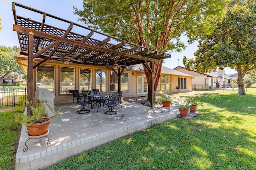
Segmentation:
{"type": "MultiPolygon", "coordinates": [[[[55,110],[61,110],[51,120],[49,125],[50,146],[47,146],[47,137],[30,139],[26,145],[28,150],[23,151],[28,139],[26,126],[22,125],[20,142],[16,153],[16,170],[44,169],[80,154],[86,150],[96,148],[111,141],[120,139],[130,133],[152,127],[177,117],[178,109],[174,105],[167,109],[150,109],[150,107],[123,102],[115,107],[115,115],[106,115],[106,106],[94,106],[89,113],[77,114],[81,106],[74,104],[59,104],[55,110]]],[[[90,107],[90,106],[89,106],[90,107]]]]}

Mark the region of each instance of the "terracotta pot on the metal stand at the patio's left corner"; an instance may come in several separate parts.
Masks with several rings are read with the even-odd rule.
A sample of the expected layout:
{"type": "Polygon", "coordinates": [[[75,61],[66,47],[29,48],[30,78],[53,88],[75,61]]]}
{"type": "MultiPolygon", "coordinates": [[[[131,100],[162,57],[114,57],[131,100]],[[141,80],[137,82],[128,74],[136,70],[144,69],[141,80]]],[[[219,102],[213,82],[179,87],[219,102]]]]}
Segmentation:
{"type": "Polygon", "coordinates": [[[44,121],[42,123],[33,123],[32,125],[27,127],[30,136],[44,135],[47,132],[51,118],[43,117],[43,119],[48,119],[48,121],[44,121]]]}

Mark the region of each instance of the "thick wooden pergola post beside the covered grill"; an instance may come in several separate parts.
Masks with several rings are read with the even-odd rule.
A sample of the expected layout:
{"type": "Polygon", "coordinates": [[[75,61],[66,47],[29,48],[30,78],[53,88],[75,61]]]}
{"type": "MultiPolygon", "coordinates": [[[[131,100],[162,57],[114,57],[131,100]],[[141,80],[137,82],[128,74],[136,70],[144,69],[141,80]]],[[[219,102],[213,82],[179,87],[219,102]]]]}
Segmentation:
{"type": "MultiPolygon", "coordinates": [[[[27,75],[27,89],[28,89],[28,101],[33,99],[33,46],[34,46],[34,33],[28,34],[28,75],[27,75]]],[[[32,111],[28,108],[28,115],[32,115],[32,111]]]]}

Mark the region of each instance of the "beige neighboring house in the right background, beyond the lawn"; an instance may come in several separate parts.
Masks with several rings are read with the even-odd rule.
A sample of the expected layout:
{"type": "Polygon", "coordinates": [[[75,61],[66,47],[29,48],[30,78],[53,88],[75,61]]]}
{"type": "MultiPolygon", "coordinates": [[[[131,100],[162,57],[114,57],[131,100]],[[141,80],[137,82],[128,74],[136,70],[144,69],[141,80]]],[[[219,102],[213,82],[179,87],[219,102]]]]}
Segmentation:
{"type": "Polygon", "coordinates": [[[208,89],[208,88],[229,88],[231,87],[231,82],[236,79],[225,75],[224,70],[218,70],[218,72],[210,72],[205,74],[200,74],[195,70],[186,70],[182,66],[177,66],[174,70],[189,74],[194,76],[192,79],[193,89],[208,89]]]}

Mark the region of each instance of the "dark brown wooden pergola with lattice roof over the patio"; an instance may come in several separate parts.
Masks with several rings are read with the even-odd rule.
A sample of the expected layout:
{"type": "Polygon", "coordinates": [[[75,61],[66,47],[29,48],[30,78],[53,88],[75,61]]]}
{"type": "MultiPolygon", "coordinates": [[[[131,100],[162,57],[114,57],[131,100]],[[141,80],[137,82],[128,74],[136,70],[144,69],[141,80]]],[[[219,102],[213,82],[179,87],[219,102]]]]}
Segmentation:
{"type": "MultiPolygon", "coordinates": [[[[120,75],[125,66],[143,64],[146,69],[150,71],[150,80],[152,82],[152,63],[160,62],[162,59],[171,57],[166,53],[128,43],[22,4],[12,2],[12,11],[15,21],[13,30],[17,31],[18,34],[21,48],[20,54],[28,56],[27,89],[29,101],[32,100],[35,90],[33,89],[33,69],[47,60],[60,61],[64,59],[64,56],[68,56],[68,58],[62,60],[62,62],[68,61],[67,64],[73,62],[108,67],[114,63],[122,65],[118,66],[117,69],[112,67],[114,72],[118,75],[118,90],[120,90],[120,75]],[[16,7],[42,15],[42,21],[17,16],[16,7]],[[65,23],[68,26],[66,29],[60,29],[48,25],[45,23],[48,18],[55,19],[57,22],[65,23]],[[72,32],[74,27],[82,29],[82,32],[86,33],[86,35],[72,32]],[[94,34],[98,34],[104,37],[104,39],[98,40],[92,38],[94,34]],[[41,61],[33,65],[34,59],[40,59],[41,61]]],[[[150,85],[152,86],[150,107],[153,108],[153,83],[150,83],[150,85]]]]}

